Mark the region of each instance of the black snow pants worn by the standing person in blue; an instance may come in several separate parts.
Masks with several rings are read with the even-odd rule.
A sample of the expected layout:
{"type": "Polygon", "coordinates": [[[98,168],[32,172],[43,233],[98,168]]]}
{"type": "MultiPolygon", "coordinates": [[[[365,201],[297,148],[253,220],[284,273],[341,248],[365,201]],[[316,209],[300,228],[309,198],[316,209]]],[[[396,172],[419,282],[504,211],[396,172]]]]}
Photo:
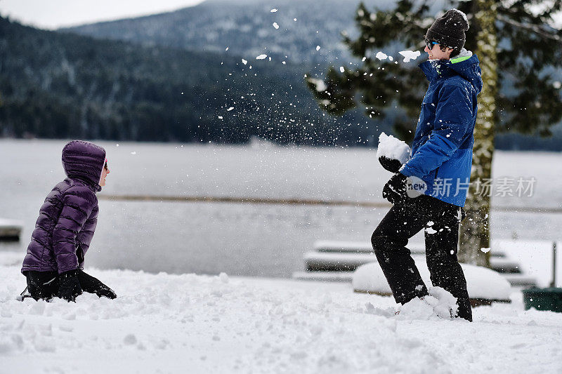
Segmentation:
{"type": "Polygon", "coordinates": [[[426,228],[426,262],[433,286],[457,298],[458,316],[472,321],[466,279],[457,260],[462,208],[421,195],[395,204],[374,230],[374,253],[396,302],[405,304],[428,295],[424,281],[406,247],[408,239],[426,228]]]}

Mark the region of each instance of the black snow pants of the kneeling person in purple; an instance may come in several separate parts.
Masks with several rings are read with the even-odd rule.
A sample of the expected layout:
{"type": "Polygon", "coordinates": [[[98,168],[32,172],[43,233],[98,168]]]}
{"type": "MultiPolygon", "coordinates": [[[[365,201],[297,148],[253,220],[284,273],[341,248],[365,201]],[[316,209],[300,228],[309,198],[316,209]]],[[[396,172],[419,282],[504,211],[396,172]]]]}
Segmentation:
{"type": "MultiPolygon", "coordinates": [[[[27,288],[30,291],[31,297],[35,300],[58,297],[58,272],[25,272],[27,278],[27,288]]],[[[115,292],[105,286],[99,279],[86,274],[82,270],[78,271],[78,281],[82,291],[87,293],[95,293],[99,297],[115,299],[117,295],[115,292]]]]}

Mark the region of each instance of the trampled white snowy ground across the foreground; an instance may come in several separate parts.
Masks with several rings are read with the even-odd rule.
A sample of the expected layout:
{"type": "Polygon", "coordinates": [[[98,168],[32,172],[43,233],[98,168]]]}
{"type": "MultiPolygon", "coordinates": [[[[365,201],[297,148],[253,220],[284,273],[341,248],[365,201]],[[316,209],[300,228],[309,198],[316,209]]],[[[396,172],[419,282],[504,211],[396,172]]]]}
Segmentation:
{"type": "Polygon", "coordinates": [[[562,314],[521,294],[468,323],[341,283],[87,269],[119,298],[20,302],[20,258],[0,260],[0,373],[562,371],[562,314]]]}

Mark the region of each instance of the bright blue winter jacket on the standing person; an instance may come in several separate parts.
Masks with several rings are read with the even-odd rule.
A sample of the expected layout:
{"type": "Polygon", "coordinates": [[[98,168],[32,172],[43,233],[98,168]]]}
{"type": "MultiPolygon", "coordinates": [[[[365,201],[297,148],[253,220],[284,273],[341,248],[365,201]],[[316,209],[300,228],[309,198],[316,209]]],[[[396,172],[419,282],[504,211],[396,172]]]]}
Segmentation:
{"type": "Polygon", "coordinates": [[[421,104],[412,157],[400,173],[423,180],[424,194],[464,206],[472,166],[476,95],[482,91],[478,58],[428,60],[419,67],[429,88],[421,104]]]}

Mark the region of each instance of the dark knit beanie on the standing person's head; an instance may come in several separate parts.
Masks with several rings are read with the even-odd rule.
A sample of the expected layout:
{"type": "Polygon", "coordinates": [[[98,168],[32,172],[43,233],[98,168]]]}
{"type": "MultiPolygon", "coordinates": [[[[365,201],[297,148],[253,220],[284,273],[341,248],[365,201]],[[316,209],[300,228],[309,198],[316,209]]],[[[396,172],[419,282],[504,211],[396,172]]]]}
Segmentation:
{"type": "Polygon", "coordinates": [[[436,41],[453,49],[464,47],[466,36],[464,32],[469,29],[469,20],[466,14],[458,9],[451,9],[437,18],[426,33],[426,40],[436,41]]]}

